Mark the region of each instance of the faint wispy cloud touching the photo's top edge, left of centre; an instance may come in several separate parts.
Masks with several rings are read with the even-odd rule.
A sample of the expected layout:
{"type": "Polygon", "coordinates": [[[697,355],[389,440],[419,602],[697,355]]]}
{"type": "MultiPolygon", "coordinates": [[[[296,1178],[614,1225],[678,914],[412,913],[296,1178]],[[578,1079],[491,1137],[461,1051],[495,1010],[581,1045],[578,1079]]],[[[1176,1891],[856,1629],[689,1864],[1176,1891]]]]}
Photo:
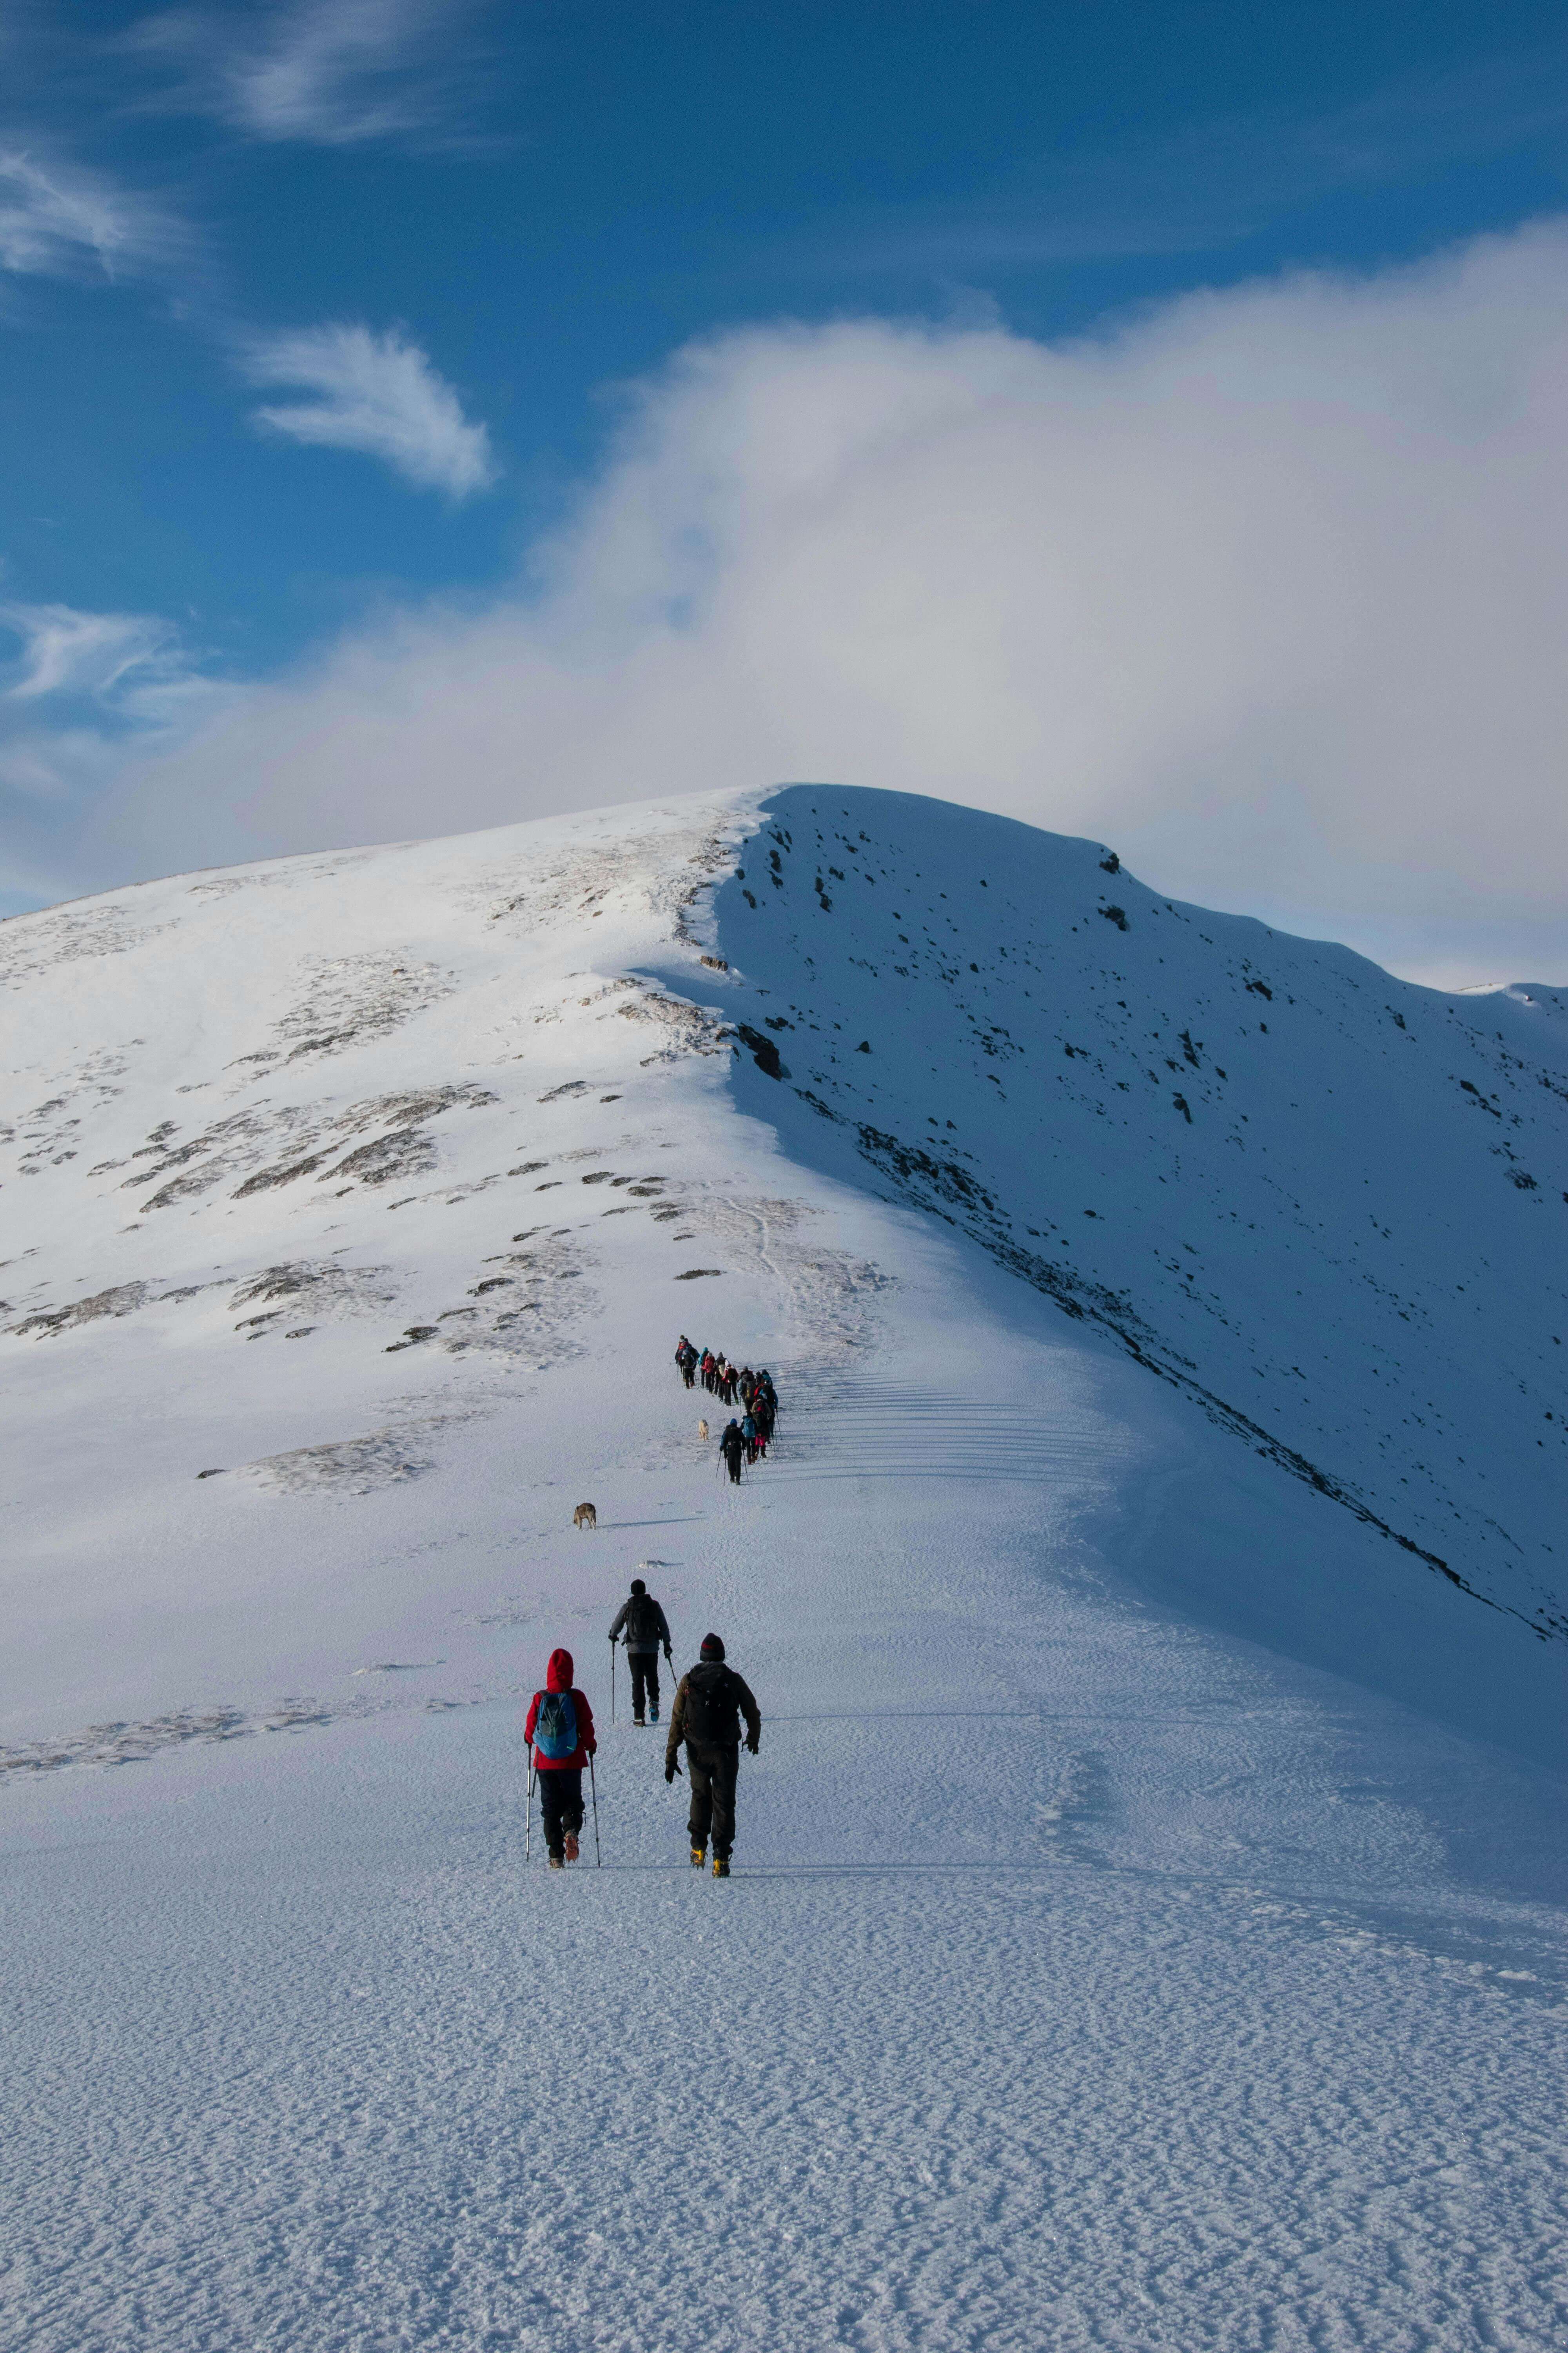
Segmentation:
{"type": "Polygon", "coordinates": [[[165,104],[252,139],[425,146],[461,129],[482,9],[484,0],[167,9],[143,16],[129,45],[174,68],[165,104]]]}

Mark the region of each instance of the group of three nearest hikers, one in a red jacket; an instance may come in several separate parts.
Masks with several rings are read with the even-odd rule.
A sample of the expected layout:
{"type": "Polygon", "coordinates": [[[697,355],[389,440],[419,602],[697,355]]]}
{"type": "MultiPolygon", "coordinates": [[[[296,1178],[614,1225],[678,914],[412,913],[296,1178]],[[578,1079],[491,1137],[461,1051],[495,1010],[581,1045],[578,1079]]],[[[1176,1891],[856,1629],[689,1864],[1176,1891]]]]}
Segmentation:
{"type": "MultiPolygon", "coordinates": [[[[642,1577],[632,1577],[632,1591],[621,1602],[609,1628],[611,1642],[625,1645],[625,1661],[632,1671],[632,1722],[658,1722],[658,1652],[663,1649],[670,1673],[675,1659],[670,1649],[670,1621],[649,1593],[642,1577]]],[[[529,1720],[522,1737],[529,1746],[529,1824],[534,1819],[534,1781],[538,1781],[538,1812],[545,1831],[545,1852],[552,1871],[576,1864],[583,1833],[583,1767],[592,1781],[592,1760],[599,1741],[592,1727],[588,1694],[574,1685],[576,1664],[569,1649],[552,1649],[545,1671],[545,1689],[534,1692],[529,1720]]],[[[614,1673],[614,1659],[611,1659],[614,1673]]],[[[712,1840],[712,1875],[729,1878],[729,1857],[736,1842],[736,1779],[741,1772],[741,1727],[752,1755],[762,1744],[762,1713],[743,1675],[724,1661],[724,1642],[717,1633],[703,1635],[703,1647],[693,1668],[675,1685],[670,1708],[670,1732],[665,1739],[665,1784],[672,1784],[679,1767],[679,1751],[686,1751],[686,1779],[691,1805],[686,1828],[691,1835],[691,1864],[696,1871],[708,1861],[712,1840]]],[[[597,1812],[597,1795],[595,1795],[597,1812]]]]}

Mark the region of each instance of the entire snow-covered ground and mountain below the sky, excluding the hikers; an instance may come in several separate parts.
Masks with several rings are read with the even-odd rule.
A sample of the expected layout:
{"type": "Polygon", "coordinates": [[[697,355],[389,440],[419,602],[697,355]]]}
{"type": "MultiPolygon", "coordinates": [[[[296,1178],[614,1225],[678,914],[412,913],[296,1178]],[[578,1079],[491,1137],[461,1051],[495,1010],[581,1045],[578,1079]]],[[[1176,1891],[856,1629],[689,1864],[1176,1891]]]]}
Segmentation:
{"type": "Polygon", "coordinates": [[[7,2346],[1563,2341],[1559,993],[825,786],[0,974],[7,2346]]]}

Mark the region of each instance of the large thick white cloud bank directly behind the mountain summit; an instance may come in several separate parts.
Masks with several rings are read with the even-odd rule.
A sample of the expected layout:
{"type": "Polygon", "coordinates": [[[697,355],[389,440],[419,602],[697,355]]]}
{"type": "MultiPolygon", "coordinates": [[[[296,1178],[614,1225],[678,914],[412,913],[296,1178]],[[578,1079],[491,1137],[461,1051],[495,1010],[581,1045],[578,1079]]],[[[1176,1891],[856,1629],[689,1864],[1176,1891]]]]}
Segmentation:
{"type": "Polygon", "coordinates": [[[835,776],[1117,842],[1406,969],[1568,976],[1568,231],[1041,346],[691,348],[487,612],[381,619],[99,866],[835,776]]]}

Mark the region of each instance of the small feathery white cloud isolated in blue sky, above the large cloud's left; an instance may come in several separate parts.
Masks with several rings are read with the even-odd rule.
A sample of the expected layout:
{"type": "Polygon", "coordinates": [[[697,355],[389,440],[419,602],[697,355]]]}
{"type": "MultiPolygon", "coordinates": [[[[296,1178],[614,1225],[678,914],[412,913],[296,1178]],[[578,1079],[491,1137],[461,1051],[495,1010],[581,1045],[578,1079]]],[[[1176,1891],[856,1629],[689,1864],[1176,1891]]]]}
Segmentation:
{"type": "Polygon", "coordinates": [[[496,464],[489,433],[463,416],[454,388],[397,327],[303,327],[249,346],[254,384],[289,384],[315,400],[273,402],[256,424],[322,449],[378,456],[418,489],[468,499],[489,489],[496,464]]]}

